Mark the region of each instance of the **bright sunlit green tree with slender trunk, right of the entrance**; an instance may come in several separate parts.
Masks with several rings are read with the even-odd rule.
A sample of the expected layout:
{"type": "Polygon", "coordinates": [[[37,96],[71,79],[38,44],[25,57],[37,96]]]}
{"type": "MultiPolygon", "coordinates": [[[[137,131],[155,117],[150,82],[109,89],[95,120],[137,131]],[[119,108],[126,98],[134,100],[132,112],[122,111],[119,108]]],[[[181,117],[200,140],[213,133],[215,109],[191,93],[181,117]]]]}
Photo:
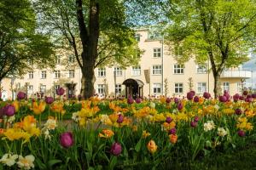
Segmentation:
{"type": "Polygon", "coordinates": [[[171,24],[166,30],[170,47],[180,62],[210,60],[217,97],[221,72],[246,61],[255,45],[255,1],[184,0],[170,5],[171,24]]]}

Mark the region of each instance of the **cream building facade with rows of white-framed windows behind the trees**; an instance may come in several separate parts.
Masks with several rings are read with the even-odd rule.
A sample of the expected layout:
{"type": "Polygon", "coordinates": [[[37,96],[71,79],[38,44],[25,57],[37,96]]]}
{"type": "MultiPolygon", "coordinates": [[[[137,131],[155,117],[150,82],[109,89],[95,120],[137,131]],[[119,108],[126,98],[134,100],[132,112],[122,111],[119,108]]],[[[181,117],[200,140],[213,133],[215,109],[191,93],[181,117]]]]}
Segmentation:
{"type": "MultiPolygon", "coordinates": [[[[191,89],[199,95],[213,94],[214,80],[208,62],[197,65],[190,59],[179,65],[163,38],[155,37],[149,29],[137,30],[136,36],[139,48],[144,51],[138,65],[125,69],[119,65],[95,69],[95,93],[99,97],[182,97],[191,89]]],[[[26,92],[29,97],[42,93],[55,97],[55,89],[60,87],[66,89],[67,98],[79,95],[82,73],[75,65],[73,54],[57,55],[55,63],[54,70],[35,69],[19,79],[4,79],[1,86],[4,99],[14,98],[18,91],[26,92]]],[[[220,87],[230,94],[240,93],[242,82],[250,77],[252,72],[241,67],[228,69],[221,75],[220,87]]]]}

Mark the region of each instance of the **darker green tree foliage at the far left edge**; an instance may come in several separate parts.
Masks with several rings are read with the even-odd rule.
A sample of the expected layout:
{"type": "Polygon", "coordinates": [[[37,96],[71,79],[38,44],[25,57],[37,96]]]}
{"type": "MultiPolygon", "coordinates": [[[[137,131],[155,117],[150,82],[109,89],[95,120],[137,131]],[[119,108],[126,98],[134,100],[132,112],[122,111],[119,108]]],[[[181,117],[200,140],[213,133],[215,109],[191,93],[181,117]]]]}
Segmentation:
{"type": "Polygon", "coordinates": [[[53,66],[53,52],[49,36],[38,30],[30,1],[0,2],[0,81],[24,74],[32,63],[53,66]]]}

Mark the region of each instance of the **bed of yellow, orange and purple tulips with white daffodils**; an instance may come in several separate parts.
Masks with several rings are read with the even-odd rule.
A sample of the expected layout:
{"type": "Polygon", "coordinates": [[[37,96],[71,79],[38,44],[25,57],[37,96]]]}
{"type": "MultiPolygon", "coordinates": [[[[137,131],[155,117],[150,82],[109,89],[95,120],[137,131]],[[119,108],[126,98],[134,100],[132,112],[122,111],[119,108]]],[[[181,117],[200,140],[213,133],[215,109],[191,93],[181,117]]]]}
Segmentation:
{"type": "Polygon", "coordinates": [[[218,99],[194,91],[182,99],[17,97],[0,103],[0,169],[221,169],[242,150],[256,153],[256,94],[247,91],[218,99]]]}

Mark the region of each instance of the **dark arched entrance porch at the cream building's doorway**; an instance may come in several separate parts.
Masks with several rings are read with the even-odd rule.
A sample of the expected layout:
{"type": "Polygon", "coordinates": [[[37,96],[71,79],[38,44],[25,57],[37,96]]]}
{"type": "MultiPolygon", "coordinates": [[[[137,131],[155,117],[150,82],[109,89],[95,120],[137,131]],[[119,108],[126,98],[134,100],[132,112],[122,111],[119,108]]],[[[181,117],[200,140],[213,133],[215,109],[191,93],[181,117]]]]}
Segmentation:
{"type": "Polygon", "coordinates": [[[128,96],[132,96],[133,99],[143,97],[144,83],[141,80],[129,78],[123,84],[125,85],[125,98],[128,96]]]}

